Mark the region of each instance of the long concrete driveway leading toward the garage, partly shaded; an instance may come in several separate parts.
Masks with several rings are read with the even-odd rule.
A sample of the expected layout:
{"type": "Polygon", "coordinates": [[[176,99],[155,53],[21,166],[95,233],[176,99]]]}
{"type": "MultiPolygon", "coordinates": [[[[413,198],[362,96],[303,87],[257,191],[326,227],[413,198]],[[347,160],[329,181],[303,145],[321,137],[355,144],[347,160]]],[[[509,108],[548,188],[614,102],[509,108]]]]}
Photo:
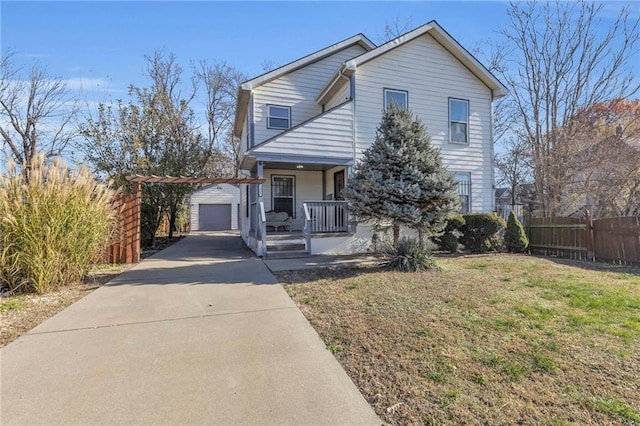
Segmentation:
{"type": "Polygon", "coordinates": [[[3,425],[381,423],[233,233],[183,239],[0,358],[3,425]]]}

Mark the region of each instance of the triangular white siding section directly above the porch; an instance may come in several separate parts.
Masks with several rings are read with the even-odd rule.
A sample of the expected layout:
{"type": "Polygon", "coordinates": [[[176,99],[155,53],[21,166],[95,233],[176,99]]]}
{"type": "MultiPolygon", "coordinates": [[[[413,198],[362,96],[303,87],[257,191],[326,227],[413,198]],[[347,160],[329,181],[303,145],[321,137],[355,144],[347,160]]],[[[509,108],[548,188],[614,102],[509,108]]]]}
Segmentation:
{"type": "Polygon", "coordinates": [[[302,155],[328,158],[353,157],[351,102],[252,150],[255,154],[302,155]]]}

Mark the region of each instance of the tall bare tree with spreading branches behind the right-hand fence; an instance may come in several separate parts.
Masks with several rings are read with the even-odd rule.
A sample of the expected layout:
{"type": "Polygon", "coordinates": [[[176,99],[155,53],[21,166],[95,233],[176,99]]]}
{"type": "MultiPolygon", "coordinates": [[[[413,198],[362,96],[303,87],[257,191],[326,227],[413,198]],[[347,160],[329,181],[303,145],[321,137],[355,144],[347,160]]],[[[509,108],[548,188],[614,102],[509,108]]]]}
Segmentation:
{"type": "Polygon", "coordinates": [[[604,5],[579,2],[514,2],[502,31],[509,46],[499,77],[510,86],[515,135],[531,151],[542,214],[561,213],[570,156],[577,134],[568,125],[584,108],[637,93],[634,55],[640,21],[624,8],[601,35],[604,5]],[[560,155],[560,153],[562,153],[560,155]]]}

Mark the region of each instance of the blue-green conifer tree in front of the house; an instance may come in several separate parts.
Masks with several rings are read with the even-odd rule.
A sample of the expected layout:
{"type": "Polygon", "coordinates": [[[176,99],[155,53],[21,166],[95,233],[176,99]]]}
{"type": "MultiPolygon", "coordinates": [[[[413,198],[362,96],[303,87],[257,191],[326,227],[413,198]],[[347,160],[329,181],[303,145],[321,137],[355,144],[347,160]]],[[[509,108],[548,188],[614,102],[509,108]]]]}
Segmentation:
{"type": "Polygon", "coordinates": [[[457,183],[424,125],[410,111],[394,107],[386,111],[363,157],[344,195],[358,219],[381,228],[391,226],[394,245],[400,226],[431,237],[457,212],[457,183]]]}

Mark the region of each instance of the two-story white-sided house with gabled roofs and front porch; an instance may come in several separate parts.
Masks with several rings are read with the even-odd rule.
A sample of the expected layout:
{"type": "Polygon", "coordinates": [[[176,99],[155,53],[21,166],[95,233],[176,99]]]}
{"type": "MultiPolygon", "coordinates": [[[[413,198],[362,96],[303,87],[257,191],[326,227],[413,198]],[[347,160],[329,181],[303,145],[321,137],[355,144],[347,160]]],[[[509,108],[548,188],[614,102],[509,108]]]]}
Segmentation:
{"type": "Polygon", "coordinates": [[[435,21],[381,46],[358,34],[243,83],[241,173],[266,181],[242,188],[242,238],[259,256],[295,240],[310,254],[366,250],[370,227],[352,223],[341,191],[391,102],[421,118],[464,211],[492,211],[492,102],[506,93],[435,21]],[[270,211],[288,226],[270,226],[270,211]]]}

